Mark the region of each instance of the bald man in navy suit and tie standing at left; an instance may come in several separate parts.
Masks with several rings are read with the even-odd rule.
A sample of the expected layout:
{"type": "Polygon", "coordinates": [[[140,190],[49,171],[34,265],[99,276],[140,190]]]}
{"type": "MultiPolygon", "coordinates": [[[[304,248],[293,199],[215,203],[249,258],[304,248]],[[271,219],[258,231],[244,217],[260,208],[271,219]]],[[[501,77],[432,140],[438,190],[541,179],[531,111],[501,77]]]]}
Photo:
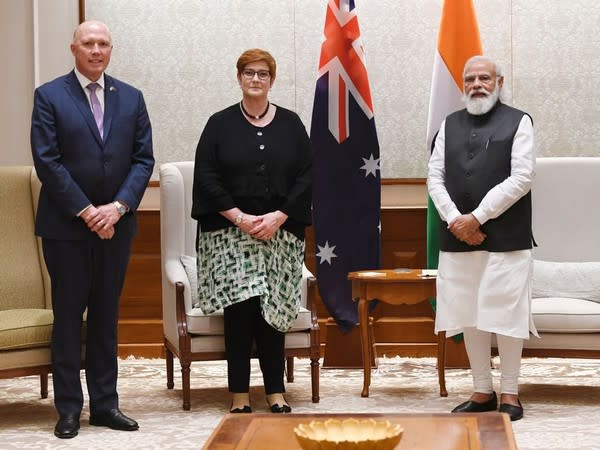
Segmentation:
{"type": "Polygon", "coordinates": [[[119,410],[119,296],[136,232],[135,211],[152,169],[152,130],[142,93],[104,73],[105,24],[73,34],[75,69],[35,91],[31,148],[42,181],[36,216],[52,281],[54,434],[79,432],[82,322],[90,425],[137,430],[119,410]],[[92,86],[90,86],[92,84],[92,86]]]}

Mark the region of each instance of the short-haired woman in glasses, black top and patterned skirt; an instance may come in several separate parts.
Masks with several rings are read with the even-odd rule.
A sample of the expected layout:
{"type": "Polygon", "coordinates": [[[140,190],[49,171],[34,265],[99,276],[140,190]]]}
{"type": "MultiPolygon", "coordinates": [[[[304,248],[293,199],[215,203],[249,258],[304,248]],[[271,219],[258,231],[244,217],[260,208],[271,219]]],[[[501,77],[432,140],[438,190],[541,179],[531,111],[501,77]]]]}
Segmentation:
{"type": "Polygon", "coordinates": [[[283,397],[284,333],[300,302],[312,151],[298,115],[269,102],[275,75],[268,52],[242,53],[242,100],[209,118],[196,149],[199,307],[224,311],[234,413],[252,411],[253,341],[271,411],[291,411],[283,397]]]}

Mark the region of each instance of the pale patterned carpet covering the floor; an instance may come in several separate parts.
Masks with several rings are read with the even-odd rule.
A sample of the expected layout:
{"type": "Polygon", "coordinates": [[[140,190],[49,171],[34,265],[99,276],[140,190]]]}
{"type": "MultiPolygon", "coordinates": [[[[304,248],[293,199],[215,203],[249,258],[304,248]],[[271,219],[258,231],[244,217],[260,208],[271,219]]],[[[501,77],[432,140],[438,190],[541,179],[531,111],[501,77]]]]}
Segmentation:
{"type": "MultiPolygon", "coordinates": [[[[178,361],[176,361],[176,367],[178,361]]],[[[176,375],[178,371],[176,370],[176,375]]],[[[251,400],[267,412],[262,380],[253,365],[251,400]]],[[[362,398],[361,370],[321,370],[321,402],[310,401],[307,360],[297,360],[295,382],[286,395],[295,413],[308,412],[447,412],[471,391],[467,370],[448,370],[449,395],[438,394],[433,358],[381,358],[373,372],[369,398],[362,398]]],[[[51,385],[51,383],[50,383],[51,385]]],[[[0,380],[0,448],[19,449],[198,449],[229,406],[223,362],[192,365],[192,410],[181,409],[180,379],[166,389],[164,360],[120,362],[122,410],[137,419],[140,430],[119,432],[87,423],[75,439],[52,432],[56,413],[50,398],[40,400],[37,377],[0,380]]],[[[600,360],[525,359],[521,379],[525,418],[513,424],[520,450],[600,449],[600,360]]]]}

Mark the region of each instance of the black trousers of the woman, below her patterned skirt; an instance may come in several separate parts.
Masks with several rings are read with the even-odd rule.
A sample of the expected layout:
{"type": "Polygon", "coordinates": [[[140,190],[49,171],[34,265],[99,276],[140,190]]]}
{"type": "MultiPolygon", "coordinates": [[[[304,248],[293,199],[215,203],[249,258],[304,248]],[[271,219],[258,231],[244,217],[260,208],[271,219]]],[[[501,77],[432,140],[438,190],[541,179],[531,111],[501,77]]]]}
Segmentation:
{"type": "Polygon", "coordinates": [[[256,342],[265,393],[285,392],[285,334],[273,328],[262,317],[260,298],[252,297],[228,306],[223,311],[223,318],[229,391],[249,391],[250,355],[252,344],[256,342]]]}

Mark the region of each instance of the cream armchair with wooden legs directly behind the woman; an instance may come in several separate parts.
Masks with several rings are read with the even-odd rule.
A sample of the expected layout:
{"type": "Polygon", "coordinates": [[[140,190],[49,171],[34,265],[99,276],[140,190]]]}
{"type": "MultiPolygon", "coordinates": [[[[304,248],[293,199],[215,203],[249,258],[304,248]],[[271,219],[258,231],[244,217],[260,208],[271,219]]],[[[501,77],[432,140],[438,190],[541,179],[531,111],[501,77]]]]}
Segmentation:
{"type": "MultiPolygon", "coordinates": [[[[166,163],[160,167],[160,233],[162,258],[162,306],[167,388],[173,389],[173,355],[181,364],[183,409],[189,410],[192,361],[225,359],[223,315],[205,315],[193,307],[196,288],[196,221],[191,218],[194,162],[166,163]],[[186,271],[187,270],[187,271],[186,271]]],[[[287,381],[294,379],[294,357],[310,359],[312,401],[319,401],[319,326],[314,305],[306,304],[308,280],[305,268],[303,307],[286,334],[287,381]]]]}

